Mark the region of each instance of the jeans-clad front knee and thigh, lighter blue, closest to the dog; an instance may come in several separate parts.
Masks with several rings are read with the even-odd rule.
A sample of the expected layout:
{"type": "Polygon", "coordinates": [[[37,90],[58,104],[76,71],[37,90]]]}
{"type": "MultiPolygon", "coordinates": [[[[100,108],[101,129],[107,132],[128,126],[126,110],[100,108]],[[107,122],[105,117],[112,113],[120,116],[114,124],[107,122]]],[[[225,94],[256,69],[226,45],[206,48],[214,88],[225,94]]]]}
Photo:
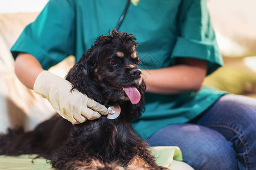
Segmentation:
{"type": "Polygon", "coordinates": [[[200,125],[169,125],[148,139],[152,146],[179,146],[184,162],[195,169],[237,169],[232,143],[200,125]]]}

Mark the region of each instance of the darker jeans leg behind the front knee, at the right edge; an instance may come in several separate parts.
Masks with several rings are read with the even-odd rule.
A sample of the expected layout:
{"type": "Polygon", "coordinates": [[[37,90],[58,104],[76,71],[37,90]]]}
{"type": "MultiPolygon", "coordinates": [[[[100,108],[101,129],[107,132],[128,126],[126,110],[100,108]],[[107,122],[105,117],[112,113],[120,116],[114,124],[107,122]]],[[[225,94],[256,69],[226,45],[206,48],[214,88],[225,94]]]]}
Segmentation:
{"type": "Polygon", "coordinates": [[[256,168],[256,100],[225,95],[197,124],[212,128],[233,143],[239,169],[256,168]]]}

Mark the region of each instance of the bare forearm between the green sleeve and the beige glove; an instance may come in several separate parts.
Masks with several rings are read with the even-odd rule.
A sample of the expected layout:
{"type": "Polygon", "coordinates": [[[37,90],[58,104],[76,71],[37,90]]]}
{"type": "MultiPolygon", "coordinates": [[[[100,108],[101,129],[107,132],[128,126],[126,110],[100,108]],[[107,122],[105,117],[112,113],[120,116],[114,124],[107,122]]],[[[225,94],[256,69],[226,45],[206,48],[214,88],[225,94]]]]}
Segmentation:
{"type": "Polygon", "coordinates": [[[15,59],[15,74],[25,86],[33,89],[38,75],[44,71],[39,61],[27,53],[19,53],[15,59]]]}

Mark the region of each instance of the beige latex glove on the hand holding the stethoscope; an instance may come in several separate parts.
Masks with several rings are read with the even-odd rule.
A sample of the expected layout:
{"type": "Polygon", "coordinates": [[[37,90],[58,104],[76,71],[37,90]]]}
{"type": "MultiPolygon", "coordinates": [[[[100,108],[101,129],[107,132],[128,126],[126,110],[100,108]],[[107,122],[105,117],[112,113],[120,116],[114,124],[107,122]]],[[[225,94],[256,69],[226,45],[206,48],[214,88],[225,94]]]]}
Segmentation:
{"type": "Polygon", "coordinates": [[[99,118],[101,114],[108,114],[108,109],[89,99],[78,90],[70,91],[72,84],[59,76],[43,71],[38,75],[34,84],[34,91],[46,98],[57,113],[63,118],[79,124],[99,118]],[[101,114],[100,114],[101,113],[101,114]]]}

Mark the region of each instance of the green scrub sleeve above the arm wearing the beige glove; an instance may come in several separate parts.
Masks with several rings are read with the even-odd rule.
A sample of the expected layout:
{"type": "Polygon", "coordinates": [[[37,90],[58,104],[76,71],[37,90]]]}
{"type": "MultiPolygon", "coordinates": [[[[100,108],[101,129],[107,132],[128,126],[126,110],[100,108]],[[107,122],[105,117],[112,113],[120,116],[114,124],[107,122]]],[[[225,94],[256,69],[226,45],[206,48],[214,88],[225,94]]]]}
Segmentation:
{"type": "Polygon", "coordinates": [[[74,54],[75,10],[72,0],[49,0],[35,22],[27,25],[11,48],[13,57],[19,52],[36,57],[43,69],[74,54]]]}

